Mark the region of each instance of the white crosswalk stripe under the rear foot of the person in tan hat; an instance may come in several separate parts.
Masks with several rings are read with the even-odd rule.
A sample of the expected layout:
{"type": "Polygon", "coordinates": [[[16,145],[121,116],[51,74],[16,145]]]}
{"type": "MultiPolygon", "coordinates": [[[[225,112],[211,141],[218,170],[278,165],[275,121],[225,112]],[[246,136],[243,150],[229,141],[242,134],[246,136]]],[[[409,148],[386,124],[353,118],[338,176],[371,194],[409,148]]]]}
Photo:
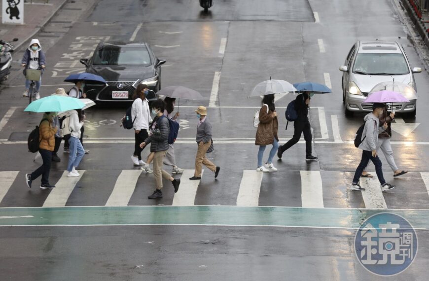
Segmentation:
{"type": "MultiPolygon", "coordinates": [[[[174,194],[173,206],[194,206],[195,196],[197,195],[198,185],[201,180],[190,180],[194,176],[195,170],[185,170],[180,177],[179,191],[174,194]]],[[[204,170],[201,171],[203,176],[204,170]]]]}

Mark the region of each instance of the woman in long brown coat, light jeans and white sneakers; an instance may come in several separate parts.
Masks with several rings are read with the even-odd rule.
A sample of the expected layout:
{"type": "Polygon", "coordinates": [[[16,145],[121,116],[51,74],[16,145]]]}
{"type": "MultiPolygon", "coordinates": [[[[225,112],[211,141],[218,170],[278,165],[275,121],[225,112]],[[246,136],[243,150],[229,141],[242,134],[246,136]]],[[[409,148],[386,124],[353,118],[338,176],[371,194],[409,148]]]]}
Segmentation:
{"type": "Polygon", "coordinates": [[[275,172],[277,168],[273,165],[273,158],[279,148],[279,137],[277,131],[279,122],[277,121],[276,106],[274,105],[274,94],[265,95],[262,100],[262,107],[259,110],[259,125],[256,131],[255,144],[259,145],[258,151],[258,172],[275,172]],[[267,145],[272,144],[270,156],[265,166],[262,166],[262,158],[267,145]]]}

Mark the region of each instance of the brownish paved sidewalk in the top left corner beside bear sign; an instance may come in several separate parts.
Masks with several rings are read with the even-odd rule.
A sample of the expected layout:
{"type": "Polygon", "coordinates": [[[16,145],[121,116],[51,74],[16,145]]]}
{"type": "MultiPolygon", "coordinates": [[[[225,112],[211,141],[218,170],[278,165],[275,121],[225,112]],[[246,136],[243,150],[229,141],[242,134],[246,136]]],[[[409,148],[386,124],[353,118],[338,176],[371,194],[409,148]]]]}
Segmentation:
{"type": "MultiPolygon", "coordinates": [[[[24,25],[1,24],[0,13],[0,38],[5,41],[11,41],[18,38],[19,41],[13,44],[18,49],[27,40],[32,38],[43,28],[50,19],[61,9],[69,0],[28,0],[24,6],[24,25]]],[[[1,3],[0,3],[1,5],[1,3]]]]}

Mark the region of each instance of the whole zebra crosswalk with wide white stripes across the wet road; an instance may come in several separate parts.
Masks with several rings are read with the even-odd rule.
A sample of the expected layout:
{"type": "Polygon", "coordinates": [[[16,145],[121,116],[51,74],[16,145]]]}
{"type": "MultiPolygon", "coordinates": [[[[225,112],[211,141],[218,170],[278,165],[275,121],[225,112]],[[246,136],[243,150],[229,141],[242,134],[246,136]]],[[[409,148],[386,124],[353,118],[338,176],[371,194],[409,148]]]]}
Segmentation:
{"type": "Polygon", "coordinates": [[[38,186],[27,188],[25,172],[2,171],[0,208],[64,207],[77,206],[79,202],[88,206],[91,198],[97,198],[97,203],[91,206],[194,206],[195,202],[219,205],[211,202],[234,198],[235,204],[243,207],[262,206],[260,202],[264,202],[263,206],[302,208],[429,209],[429,173],[408,173],[394,179],[397,188],[389,192],[382,192],[375,175],[374,178],[361,178],[361,186],[366,190],[359,192],[350,190],[351,172],[289,171],[282,174],[235,170],[241,180],[231,183],[221,176],[215,180],[210,173],[203,173],[202,180],[189,180],[194,170],[185,170],[179,191],[174,193],[171,183],[165,181],[164,198],[159,200],[147,199],[155,187],[153,175],[140,169],[112,171],[110,176],[97,176],[106,173],[101,170],[79,173],[79,177],[67,177],[67,172],[58,173],[56,187],[41,190],[38,186]],[[105,182],[107,179],[115,181],[105,182]],[[79,201],[76,200],[78,196],[89,196],[90,199],[79,201]],[[296,202],[299,199],[301,202],[296,202]]]}

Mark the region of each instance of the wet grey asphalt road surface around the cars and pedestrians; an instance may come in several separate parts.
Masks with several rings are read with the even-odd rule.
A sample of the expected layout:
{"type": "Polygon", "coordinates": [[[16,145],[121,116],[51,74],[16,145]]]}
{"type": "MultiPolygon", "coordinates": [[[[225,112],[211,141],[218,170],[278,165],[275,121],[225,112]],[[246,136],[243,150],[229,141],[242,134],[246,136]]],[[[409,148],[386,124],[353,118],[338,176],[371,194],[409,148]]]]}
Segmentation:
{"type": "MultiPolygon", "coordinates": [[[[359,151],[345,142],[353,140],[364,114],[345,117],[338,67],[356,40],[374,38],[400,42],[412,67],[425,66],[407,38],[395,1],[214,2],[209,14],[204,14],[196,0],[100,0],[93,8],[80,11],[82,16],[77,21],[71,20],[71,11],[75,10],[67,10],[74,7],[69,3],[60,12],[60,20],[48,25],[39,36],[48,60],[41,96],[66,84],[62,80],[68,72],[83,70],[77,61],[89,56],[98,41],[147,41],[159,58],[167,60],[162,67],[162,87],[183,85],[205,97],[199,102],[180,101],[182,130],[175,144],[180,168],[193,169],[196,147],[192,140],[197,124],[194,106],[209,106],[212,101],[208,112],[214,125],[215,152],[210,158],[222,170],[217,180],[213,173],[205,171],[194,204],[234,206],[244,170],[256,167],[252,117],[260,101],[248,98],[252,87],[270,76],[289,82],[326,83],[324,73],[328,73],[334,93],[316,96],[310,110],[313,152],[320,161],[306,163],[302,143],[287,151],[283,161],[275,157],[279,172],[263,176],[258,205],[305,207],[300,171],[320,171],[324,208],[365,208],[362,195],[349,189],[359,151]],[[314,12],[319,22],[315,22],[314,12]],[[227,39],[224,52],[223,38],[227,39]],[[323,40],[325,52],[321,52],[318,39],[323,40]],[[219,71],[218,95],[214,98],[213,80],[219,71]],[[338,119],[341,141],[335,136],[333,116],[338,119]]],[[[16,53],[15,60],[21,55],[22,52],[16,53]]],[[[13,67],[19,69],[18,64],[13,67]]],[[[411,173],[393,180],[382,156],[386,179],[398,185],[383,194],[389,209],[429,209],[428,186],[421,174],[429,172],[429,130],[425,122],[429,118],[425,110],[429,102],[428,72],[416,74],[415,79],[419,90],[417,116],[402,117],[409,126],[420,125],[410,134],[398,127],[404,135],[394,132],[392,138],[396,163],[411,173]]],[[[50,192],[38,188],[29,191],[23,181],[25,173],[40,164],[39,159],[32,161],[34,155],[27,153],[22,143],[28,130],[39,122],[39,115],[22,111],[27,101],[21,98],[23,79],[19,71],[13,71],[3,84],[12,87],[0,88],[0,117],[11,107],[16,109],[0,130],[0,171],[17,173],[0,207],[42,207],[50,192]]],[[[277,106],[285,107],[292,99],[293,95],[286,96],[277,106]]],[[[85,174],[63,206],[104,206],[121,172],[137,170],[129,158],[133,132],[119,127],[126,107],[111,104],[87,110],[84,144],[91,152],[79,167],[85,174]]],[[[293,131],[284,130],[284,108],[278,111],[279,135],[284,143],[293,131]]],[[[146,150],[143,155],[147,155],[146,150]]],[[[53,164],[52,183],[60,180],[67,165],[67,154],[60,153],[60,157],[62,162],[53,164]]],[[[164,186],[163,199],[147,200],[154,188],[153,176],[142,173],[128,205],[172,205],[172,189],[168,182],[164,186]]],[[[1,230],[0,252],[5,262],[0,263],[0,277],[4,280],[278,280],[286,276],[293,280],[377,280],[357,262],[350,246],[353,230],[231,226],[45,226],[1,230]],[[21,270],[11,270],[16,267],[21,270]],[[65,272],[70,274],[66,276],[65,272]]],[[[427,245],[427,231],[419,231],[418,235],[421,245],[427,245]]],[[[398,278],[425,280],[426,249],[422,246],[416,262],[398,278]]]]}

